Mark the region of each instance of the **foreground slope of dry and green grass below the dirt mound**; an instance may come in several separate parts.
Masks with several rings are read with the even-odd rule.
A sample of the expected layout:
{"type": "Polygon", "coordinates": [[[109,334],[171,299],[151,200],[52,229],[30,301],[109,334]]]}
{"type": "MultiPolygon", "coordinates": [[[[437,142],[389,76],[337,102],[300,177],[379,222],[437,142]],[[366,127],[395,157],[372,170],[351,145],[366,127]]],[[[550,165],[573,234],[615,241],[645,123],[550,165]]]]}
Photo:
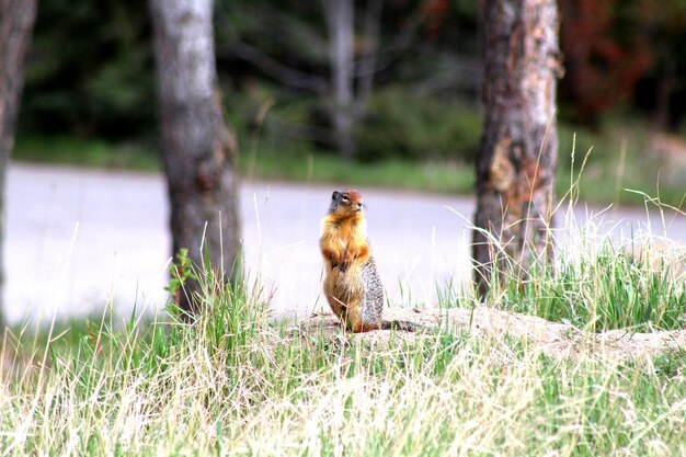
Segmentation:
{"type": "Polygon", "coordinates": [[[104,329],[48,353],[44,370],[18,367],[3,381],[0,446],[13,455],[686,450],[683,352],[559,362],[514,339],[445,333],[370,349],[288,340],[245,317],[217,338],[226,323],[213,319],[193,330],[104,329]]]}

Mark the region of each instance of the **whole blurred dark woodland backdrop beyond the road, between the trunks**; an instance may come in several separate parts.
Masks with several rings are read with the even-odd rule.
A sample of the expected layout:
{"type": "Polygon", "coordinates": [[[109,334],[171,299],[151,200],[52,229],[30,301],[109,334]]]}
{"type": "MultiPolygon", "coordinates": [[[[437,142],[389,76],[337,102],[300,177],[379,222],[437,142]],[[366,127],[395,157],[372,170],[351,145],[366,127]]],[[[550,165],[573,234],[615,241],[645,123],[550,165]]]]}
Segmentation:
{"type": "MultiPolygon", "coordinates": [[[[369,49],[376,60],[346,174],[327,115],[331,65],[322,2],[217,0],[217,68],[244,174],[354,182],[373,165],[371,183],[388,172],[396,185],[470,190],[462,169],[471,171],[482,121],[479,2],[386,0],[374,36],[365,22],[373,4],[355,1],[357,71],[369,49]],[[434,171],[422,178],[421,170],[439,170],[445,179],[434,171]],[[450,170],[456,174],[446,174],[450,170]]],[[[578,160],[593,147],[582,197],[602,186],[609,195],[618,186],[654,193],[660,180],[661,195],[679,203],[686,182],[686,2],[559,0],[559,9],[561,174],[571,167],[576,134],[578,160]]],[[[155,167],[152,66],[144,3],[42,0],[16,157],[155,167]]]]}

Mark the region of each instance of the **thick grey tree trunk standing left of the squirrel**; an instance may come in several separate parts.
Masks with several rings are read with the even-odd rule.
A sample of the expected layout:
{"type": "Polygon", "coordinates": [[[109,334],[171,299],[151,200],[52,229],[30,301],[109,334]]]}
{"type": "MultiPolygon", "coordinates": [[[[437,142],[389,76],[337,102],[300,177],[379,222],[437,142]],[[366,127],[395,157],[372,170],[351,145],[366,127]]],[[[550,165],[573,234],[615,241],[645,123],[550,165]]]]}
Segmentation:
{"type": "MultiPolygon", "coordinates": [[[[194,264],[233,281],[241,264],[237,151],[217,88],[213,7],[150,0],[173,253],[187,249],[194,264]]],[[[196,292],[198,284],[186,284],[182,309],[198,311],[196,292]]]]}

